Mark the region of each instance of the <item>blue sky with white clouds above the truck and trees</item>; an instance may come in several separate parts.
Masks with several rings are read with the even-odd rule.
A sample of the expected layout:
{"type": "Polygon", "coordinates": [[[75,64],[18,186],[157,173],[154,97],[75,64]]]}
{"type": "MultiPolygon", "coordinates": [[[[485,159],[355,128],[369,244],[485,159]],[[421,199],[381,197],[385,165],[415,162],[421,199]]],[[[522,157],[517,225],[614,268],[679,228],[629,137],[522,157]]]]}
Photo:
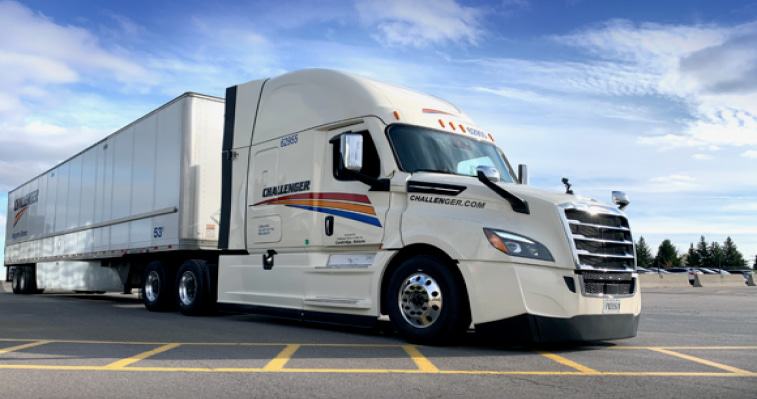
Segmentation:
{"type": "Polygon", "coordinates": [[[0,224],[8,191],[172,98],[311,67],[452,102],[533,186],[625,191],[653,252],[730,236],[754,262],[757,1],[738,0],[0,0],[0,224]]]}

